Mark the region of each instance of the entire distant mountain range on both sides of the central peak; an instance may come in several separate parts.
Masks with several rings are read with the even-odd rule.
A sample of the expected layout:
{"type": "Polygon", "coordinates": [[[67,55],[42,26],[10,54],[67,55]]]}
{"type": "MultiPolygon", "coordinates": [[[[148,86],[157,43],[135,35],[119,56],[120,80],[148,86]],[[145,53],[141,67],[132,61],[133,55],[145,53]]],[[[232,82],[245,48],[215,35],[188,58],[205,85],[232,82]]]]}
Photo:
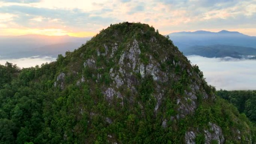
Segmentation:
{"type": "MultiPolygon", "coordinates": [[[[237,31],[222,30],[178,32],[169,34],[185,55],[205,57],[256,58],[256,37],[237,31]]],[[[91,37],[70,36],[0,36],[0,59],[15,59],[31,56],[57,57],[59,53],[73,51],[91,37]]]]}

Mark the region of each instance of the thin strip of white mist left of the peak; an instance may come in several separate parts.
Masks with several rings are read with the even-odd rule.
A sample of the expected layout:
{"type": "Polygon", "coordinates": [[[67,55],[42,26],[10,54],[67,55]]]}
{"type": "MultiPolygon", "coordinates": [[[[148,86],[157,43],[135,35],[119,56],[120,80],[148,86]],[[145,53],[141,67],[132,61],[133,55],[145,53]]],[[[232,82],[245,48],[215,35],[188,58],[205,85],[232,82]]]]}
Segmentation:
{"type": "Polygon", "coordinates": [[[41,65],[46,62],[55,61],[56,58],[52,58],[50,56],[32,56],[28,58],[19,58],[19,59],[0,59],[0,64],[4,65],[6,62],[10,62],[12,64],[17,64],[20,68],[28,68],[28,67],[35,67],[36,65],[41,65]]]}

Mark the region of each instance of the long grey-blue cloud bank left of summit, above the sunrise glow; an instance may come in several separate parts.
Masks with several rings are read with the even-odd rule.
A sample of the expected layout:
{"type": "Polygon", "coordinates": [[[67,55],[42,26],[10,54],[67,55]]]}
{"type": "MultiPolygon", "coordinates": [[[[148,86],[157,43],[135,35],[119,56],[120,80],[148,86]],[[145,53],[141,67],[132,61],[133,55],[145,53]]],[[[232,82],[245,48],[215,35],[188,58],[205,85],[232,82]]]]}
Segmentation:
{"type": "Polygon", "coordinates": [[[44,26],[60,28],[67,25],[70,28],[89,27],[88,23],[111,23],[115,19],[112,17],[101,16],[102,13],[111,12],[112,9],[101,9],[100,12],[84,12],[80,9],[49,9],[32,6],[3,6],[0,13],[12,13],[16,15],[12,23],[22,27],[39,28],[44,26]],[[31,22],[40,18],[40,21],[31,22]]]}

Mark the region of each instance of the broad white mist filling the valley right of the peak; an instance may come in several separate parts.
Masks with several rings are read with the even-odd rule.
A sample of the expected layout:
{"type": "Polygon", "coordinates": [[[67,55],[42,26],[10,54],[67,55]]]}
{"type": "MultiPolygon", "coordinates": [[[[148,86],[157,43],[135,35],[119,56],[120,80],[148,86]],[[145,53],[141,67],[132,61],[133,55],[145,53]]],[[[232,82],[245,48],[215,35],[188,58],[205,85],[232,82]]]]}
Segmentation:
{"type": "Polygon", "coordinates": [[[187,56],[198,65],[208,84],[217,90],[255,90],[256,60],[187,56]]]}

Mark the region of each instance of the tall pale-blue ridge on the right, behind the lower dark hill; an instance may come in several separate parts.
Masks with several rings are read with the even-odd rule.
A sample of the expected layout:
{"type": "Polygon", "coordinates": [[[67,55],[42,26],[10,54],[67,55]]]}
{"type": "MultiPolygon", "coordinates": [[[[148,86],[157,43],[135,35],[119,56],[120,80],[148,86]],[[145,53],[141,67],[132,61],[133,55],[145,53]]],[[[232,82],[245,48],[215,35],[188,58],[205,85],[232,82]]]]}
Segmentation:
{"type": "Polygon", "coordinates": [[[171,33],[169,36],[180,50],[194,45],[232,45],[256,48],[256,37],[247,36],[237,31],[222,30],[217,33],[210,31],[178,32],[171,33]]]}

